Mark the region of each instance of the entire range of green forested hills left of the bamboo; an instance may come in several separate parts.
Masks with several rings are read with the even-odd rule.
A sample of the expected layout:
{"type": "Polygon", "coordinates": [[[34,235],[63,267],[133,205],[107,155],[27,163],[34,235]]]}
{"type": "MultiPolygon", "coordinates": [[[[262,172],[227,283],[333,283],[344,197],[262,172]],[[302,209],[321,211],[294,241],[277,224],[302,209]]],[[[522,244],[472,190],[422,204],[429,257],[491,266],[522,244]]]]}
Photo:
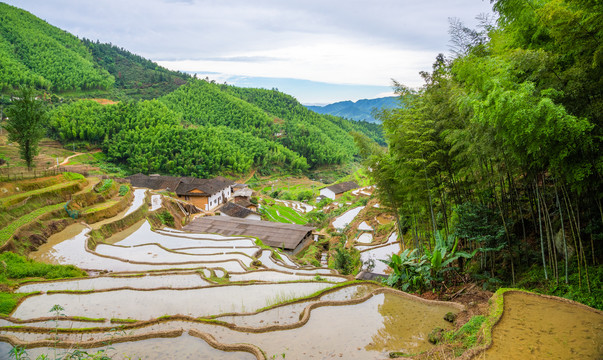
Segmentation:
{"type": "Polygon", "coordinates": [[[52,95],[50,137],[102,147],[129,171],[300,172],[353,161],[354,131],[385,144],[380,126],[314,113],[275,90],[198,80],[111,44],[80,41],[20,9],[0,9],[3,92],[29,85],[52,95]],[[119,102],[76,100],[97,97],[119,102]]]}

